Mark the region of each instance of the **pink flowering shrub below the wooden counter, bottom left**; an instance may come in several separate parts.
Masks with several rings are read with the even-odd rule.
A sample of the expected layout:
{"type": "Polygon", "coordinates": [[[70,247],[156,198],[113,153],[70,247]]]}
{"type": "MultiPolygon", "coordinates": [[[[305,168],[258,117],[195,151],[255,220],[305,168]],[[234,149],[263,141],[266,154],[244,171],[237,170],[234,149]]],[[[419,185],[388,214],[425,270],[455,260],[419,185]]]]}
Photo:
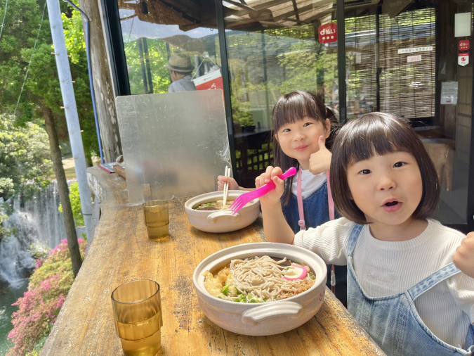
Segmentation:
{"type": "MultiPolygon", "coordinates": [[[[86,242],[78,239],[81,258],[86,242]]],[[[28,291],[13,305],[18,311],[12,315],[13,330],[8,338],[15,343],[7,356],[37,354],[51,331],[56,317],[69,292],[74,274],[67,241],[53,248],[44,260],[37,260],[37,268],[29,278],[28,291]]]]}

